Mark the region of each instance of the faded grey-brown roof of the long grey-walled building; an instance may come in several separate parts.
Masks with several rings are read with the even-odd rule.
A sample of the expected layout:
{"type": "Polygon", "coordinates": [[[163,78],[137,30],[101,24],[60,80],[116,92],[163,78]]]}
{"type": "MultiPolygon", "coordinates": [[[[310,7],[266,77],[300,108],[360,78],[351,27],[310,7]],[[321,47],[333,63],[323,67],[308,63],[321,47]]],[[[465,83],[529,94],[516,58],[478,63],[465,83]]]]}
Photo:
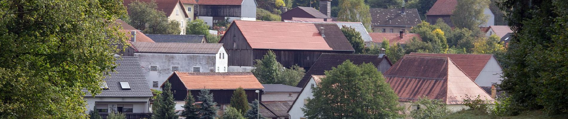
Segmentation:
{"type": "Polygon", "coordinates": [[[164,52],[175,54],[217,54],[220,43],[165,43],[132,42],[135,52],[164,52]]]}

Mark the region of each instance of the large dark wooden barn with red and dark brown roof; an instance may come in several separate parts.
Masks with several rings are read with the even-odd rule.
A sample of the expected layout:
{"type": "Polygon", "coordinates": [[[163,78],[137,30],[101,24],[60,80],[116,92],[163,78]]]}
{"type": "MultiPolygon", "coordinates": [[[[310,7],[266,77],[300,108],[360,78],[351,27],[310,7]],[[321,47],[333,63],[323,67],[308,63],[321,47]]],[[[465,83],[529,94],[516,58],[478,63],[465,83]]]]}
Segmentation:
{"type": "Polygon", "coordinates": [[[336,24],[235,20],[219,43],[229,54],[229,72],[252,69],[268,50],[284,67],[297,64],[306,70],[322,53],[354,51],[336,24]]]}

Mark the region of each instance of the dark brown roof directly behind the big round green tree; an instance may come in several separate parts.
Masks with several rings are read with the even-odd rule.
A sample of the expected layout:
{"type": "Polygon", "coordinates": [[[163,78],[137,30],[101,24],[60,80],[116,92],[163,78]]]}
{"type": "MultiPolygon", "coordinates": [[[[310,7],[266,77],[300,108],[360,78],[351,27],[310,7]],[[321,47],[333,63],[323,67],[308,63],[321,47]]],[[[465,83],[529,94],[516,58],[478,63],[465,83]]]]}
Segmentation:
{"type": "Polygon", "coordinates": [[[378,67],[381,64],[383,58],[379,58],[378,55],[364,55],[364,54],[321,54],[312,65],[310,70],[306,72],[306,75],[298,82],[296,87],[304,87],[306,83],[310,81],[310,77],[312,75],[325,75],[325,70],[331,70],[332,67],[337,67],[343,63],[343,61],[349,60],[353,62],[353,64],[363,64],[363,63],[373,63],[375,67],[378,67]]]}

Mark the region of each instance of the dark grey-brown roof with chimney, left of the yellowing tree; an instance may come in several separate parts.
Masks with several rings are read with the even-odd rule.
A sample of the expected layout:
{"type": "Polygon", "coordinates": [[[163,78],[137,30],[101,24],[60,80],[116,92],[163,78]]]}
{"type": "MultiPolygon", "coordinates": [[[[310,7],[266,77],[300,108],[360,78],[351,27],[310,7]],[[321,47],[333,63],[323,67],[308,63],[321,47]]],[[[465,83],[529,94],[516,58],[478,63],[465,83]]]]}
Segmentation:
{"type": "Polygon", "coordinates": [[[416,8],[407,8],[404,15],[400,8],[370,8],[371,25],[414,27],[420,24],[420,15],[416,8]]]}

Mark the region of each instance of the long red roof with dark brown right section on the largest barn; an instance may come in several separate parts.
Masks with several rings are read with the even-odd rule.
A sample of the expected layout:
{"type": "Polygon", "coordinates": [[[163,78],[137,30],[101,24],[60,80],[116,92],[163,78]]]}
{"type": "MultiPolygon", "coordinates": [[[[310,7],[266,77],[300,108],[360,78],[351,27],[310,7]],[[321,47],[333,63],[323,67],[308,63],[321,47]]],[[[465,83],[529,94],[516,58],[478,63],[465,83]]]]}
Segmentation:
{"type": "Polygon", "coordinates": [[[353,50],[336,24],[244,20],[235,20],[234,24],[253,49],[353,50]],[[325,34],[329,37],[321,37],[317,27],[324,27],[325,34]]]}

